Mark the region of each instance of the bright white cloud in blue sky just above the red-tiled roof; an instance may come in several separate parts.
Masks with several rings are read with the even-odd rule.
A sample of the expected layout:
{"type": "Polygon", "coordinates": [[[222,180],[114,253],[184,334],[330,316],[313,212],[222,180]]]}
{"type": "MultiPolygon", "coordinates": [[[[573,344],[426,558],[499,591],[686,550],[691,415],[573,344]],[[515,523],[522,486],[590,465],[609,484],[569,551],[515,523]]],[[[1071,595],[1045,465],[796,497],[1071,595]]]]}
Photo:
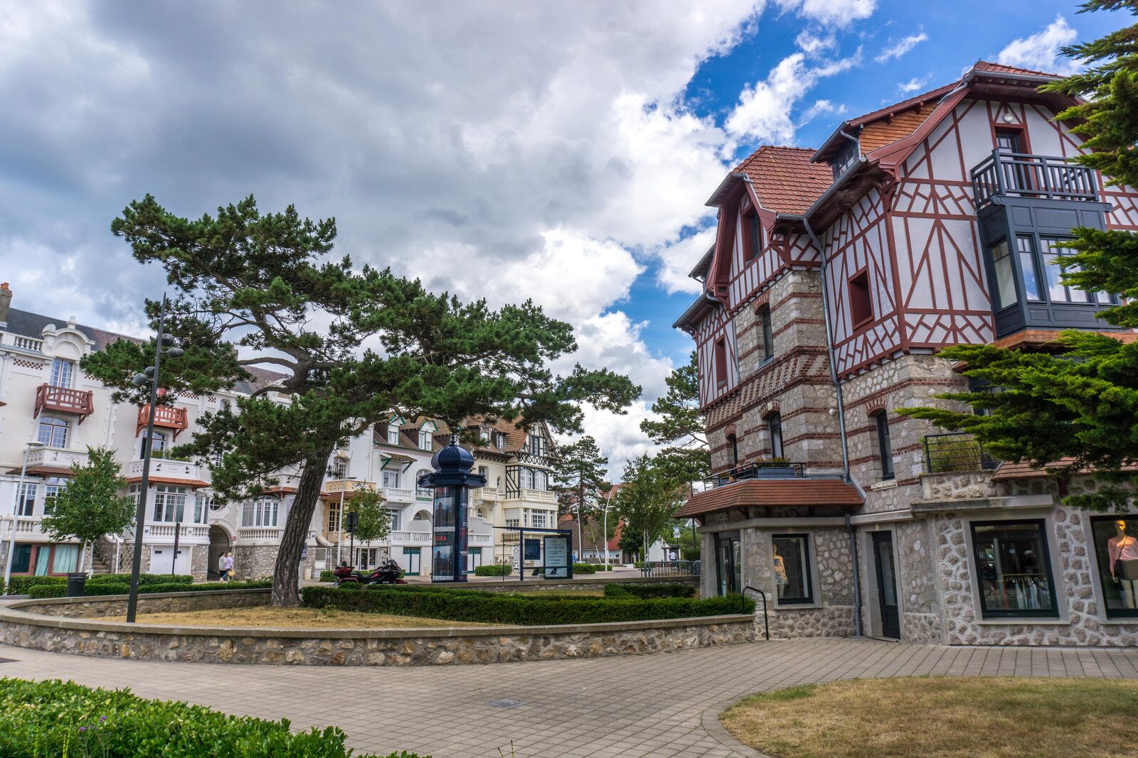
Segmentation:
{"type": "MultiPolygon", "coordinates": [[[[828,61],[816,67],[806,64],[806,55],[792,53],[783,58],[767,75],[766,81],[747,86],[739,95],[724,128],[734,140],[790,143],[794,140],[793,107],[818,80],[849,70],[861,60],[861,49],[849,58],[828,61]]],[[[732,144],[732,143],[728,143],[732,144]]]]}

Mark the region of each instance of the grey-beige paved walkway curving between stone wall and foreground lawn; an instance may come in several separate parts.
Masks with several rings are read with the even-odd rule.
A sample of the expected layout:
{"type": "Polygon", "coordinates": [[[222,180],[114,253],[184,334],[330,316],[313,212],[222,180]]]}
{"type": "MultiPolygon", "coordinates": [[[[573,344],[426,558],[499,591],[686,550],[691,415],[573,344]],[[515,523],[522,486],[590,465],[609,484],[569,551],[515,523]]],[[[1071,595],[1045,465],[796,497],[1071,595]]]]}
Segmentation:
{"type": "Polygon", "coordinates": [[[790,640],[650,656],[409,668],[135,661],[6,645],[0,645],[0,658],[15,659],[0,664],[0,676],[129,686],[148,698],[287,717],[297,727],[335,724],[357,751],[404,749],[435,758],[757,756],[716,720],[724,706],[750,692],[920,674],[1138,678],[1136,649],[876,640],[790,640]],[[520,705],[489,705],[500,700],[520,705]]]}

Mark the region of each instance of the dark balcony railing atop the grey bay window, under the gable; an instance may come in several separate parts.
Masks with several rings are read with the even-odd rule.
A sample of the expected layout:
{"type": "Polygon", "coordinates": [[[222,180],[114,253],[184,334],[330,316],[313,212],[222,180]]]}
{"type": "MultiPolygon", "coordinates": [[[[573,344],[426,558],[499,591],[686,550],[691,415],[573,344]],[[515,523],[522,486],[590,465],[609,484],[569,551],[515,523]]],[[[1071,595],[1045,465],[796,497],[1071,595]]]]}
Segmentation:
{"type": "Polygon", "coordinates": [[[972,169],[972,191],[978,210],[997,195],[1094,202],[1098,181],[1090,168],[1057,156],[992,150],[972,169]]]}

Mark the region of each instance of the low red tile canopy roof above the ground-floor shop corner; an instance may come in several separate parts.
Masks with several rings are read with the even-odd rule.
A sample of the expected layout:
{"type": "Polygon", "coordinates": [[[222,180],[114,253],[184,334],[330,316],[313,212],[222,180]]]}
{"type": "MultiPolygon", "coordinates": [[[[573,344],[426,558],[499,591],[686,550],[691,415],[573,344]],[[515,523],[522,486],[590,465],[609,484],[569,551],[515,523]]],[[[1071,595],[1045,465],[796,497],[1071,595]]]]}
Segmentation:
{"type": "Polygon", "coordinates": [[[747,480],[699,492],[676,511],[676,518],[714,510],[760,506],[860,506],[857,488],[840,480],[747,480]]]}

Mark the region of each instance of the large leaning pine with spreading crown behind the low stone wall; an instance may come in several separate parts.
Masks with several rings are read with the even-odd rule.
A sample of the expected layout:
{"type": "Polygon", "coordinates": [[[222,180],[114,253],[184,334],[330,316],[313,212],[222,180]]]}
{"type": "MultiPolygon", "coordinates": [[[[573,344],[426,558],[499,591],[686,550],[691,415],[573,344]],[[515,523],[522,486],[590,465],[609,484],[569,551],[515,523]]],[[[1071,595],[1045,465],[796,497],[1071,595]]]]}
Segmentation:
{"type": "MultiPolygon", "coordinates": [[[[147,195],[112,231],[139,263],[163,266],[174,290],[165,331],[185,355],[163,363],[167,401],[179,390],[248,381],[250,368],[282,374],[238,400],[236,411],[205,416],[189,445],[229,500],[299,468],[273,573],[277,606],[299,602],[300,550],[332,451],[373,424],[396,414],[459,428],[479,416],[579,431],[580,402],[624,413],[640,394],[609,370],[577,366],[554,376],[546,363],[576,349],[572,328],[533,302],[493,310],[387,269],[354,269],[349,258],[331,258],[336,222],[302,218],[291,206],[262,215],[249,197],[191,220],[147,195]]],[[[158,303],[146,308],[155,319],[158,303]]],[[[149,355],[121,341],[83,368],[119,388],[117,398],[142,402],[130,376],[149,355]]]]}

